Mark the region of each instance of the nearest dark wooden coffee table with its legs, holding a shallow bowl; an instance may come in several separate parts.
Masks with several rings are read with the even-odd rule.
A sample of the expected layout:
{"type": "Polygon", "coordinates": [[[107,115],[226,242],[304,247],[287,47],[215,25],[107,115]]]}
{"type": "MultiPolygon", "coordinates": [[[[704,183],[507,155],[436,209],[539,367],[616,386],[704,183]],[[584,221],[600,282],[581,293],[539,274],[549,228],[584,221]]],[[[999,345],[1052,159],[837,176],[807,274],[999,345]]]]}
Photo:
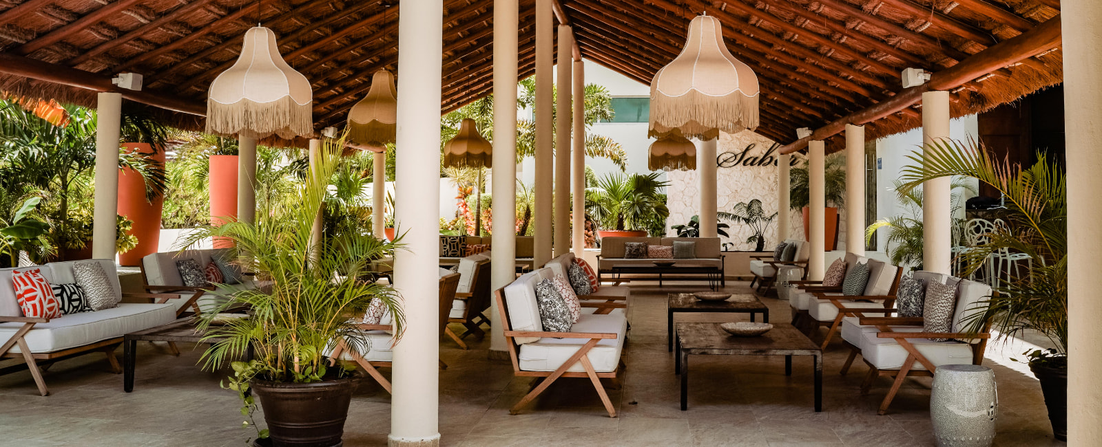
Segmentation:
{"type": "Polygon", "coordinates": [[[822,349],[789,324],[775,324],[758,337],[735,337],[719,323],[679,323],[676,369],[681,374],[681,410],[689,407],[689,356],[785,356],[785,375],[792,375],[792,356],[811,356],[814,362],[815,411],[823,408],[822,349]]]}

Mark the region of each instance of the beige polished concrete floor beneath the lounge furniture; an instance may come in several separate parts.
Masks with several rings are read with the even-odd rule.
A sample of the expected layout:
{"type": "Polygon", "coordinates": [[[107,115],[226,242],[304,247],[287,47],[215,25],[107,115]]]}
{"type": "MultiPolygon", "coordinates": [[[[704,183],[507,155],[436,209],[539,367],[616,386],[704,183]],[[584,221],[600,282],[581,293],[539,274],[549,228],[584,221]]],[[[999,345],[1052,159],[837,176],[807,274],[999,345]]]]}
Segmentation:
{"type": "MultiPolygon", "coordinates": [[[[628,368],[622,389],[609,391],[619,417],[607,416],[585,379],[560,380],[522,414],[510,416],[508,408],[527,392],[529,380],[514,379],[509,363],[488,361],[488,341],[474,342],[464,351],[442,340],[441,357],[450,366],[440,373],[442,444],[933,445],[930,379],[909,380],[890,413],[877,416],[888,379],[879,379],[871,395],[858,395],[865,366],[858,362],[849,375],[840,375],[846,352],[840,344],[825,353],[822,413],[812,408],[809,359],[796,358],[792,375],[785,377],[784,359],[745,357],[693,358],[689,411],[680,411],[679,381],[666,345],[666,294],[701,287],[667,283],[659,288],[640,283],[633,290],[633,329],[625,350],[628,368]]],[[[727,290],[748,291],[746,283],[728,283],[727,290]]],[[[775,321],[787,320],[787,302],[765,301],[775,321]]],[[[682,318],[738,320],[745,316],[679,315],[678,319],[682,318]]],[[[173,357],[163,345],[140,344],[132,393],[122,392],[122,377],[108,371],[101,355],[53,366],[45,373],[52,392],[46,397],[37,395],[26,371],[0,377],[0,445],[244,445],[252,432],[241,428],[236,393],[218,388],[226,372],[201,371],[196,366],[201,350],[182,348],[184,353],[173,357]]],[[[1017,352],[1009,349],[1015,348],[995,346],[985,361],[994,368],[998,382],[995,445],[1063,445],[1051,437],[1037,381],[1022,368],[1014,369],[1006,356],[1017,352]]],[[[345,425],[345,445],[385,446],[390,395],[374,382],[364,383],[345,425]]]]}

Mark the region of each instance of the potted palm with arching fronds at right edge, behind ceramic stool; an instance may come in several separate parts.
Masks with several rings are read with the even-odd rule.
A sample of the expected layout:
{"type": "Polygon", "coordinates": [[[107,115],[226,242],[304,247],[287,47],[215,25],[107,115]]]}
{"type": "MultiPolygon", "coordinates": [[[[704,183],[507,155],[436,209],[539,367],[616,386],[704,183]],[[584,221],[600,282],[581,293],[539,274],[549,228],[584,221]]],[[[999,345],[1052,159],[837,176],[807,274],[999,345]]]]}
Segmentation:
{"type": "Polygon", "coordinates": [[[977,178],[1006,198],[1011,225],[988,233],[990,242],[962,254],[965,273],[979,269],[997,252],[1026,253],[1033,269],[1001,282],[995,294],[980,303],[971,330],[985,324],[998,328],[1000,337],[1037,332],[1054,348],[1027,352],[1027,362],[1040,381],[1049,422],[1058,439],[1067,438],[1068,389],[1068,197],[1063,171],[1057,161],[1038,153],[1038,162],[1023,168],[996,160],[981,144],[938,142],[926,156],[911,155],[904,168],[900,193],[922,182],[946,176],[977,178]]]}

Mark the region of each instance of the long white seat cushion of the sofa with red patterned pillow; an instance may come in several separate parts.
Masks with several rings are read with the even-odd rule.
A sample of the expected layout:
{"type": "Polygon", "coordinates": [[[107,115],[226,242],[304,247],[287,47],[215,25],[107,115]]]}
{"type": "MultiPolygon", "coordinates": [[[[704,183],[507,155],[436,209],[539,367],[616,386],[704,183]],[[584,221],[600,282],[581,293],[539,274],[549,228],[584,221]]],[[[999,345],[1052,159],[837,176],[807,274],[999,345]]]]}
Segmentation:
{"type": "MultiPolygon", "coordinates": [[[[63,315],[50,323],[36,324],[26,332],[25,339],[31,352],[54,352],[122,337],[175,319],[176,310],[172,304],[122,303],[118,307],[63,315]]],[[[22,326],[22,323],[0,324],[0,345],[22,326]]],[[[12,348],[12,352],[19,352],[19,347],[12,348]]]]}

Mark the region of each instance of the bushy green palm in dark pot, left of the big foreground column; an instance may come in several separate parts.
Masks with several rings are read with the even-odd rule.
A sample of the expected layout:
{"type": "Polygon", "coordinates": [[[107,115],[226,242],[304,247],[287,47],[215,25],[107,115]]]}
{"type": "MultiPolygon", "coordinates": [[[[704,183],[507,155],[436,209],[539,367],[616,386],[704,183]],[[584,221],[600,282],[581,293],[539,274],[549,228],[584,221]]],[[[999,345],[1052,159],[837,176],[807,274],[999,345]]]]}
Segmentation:
{"type": "MultiPolygon", "coordinates": [[[[229,221],[204,226],[188,237],[193,244],[210,237],[234,242],[228,249],[233,263],[255,272],[256,281],[270,286],[238,290],[218,286],[223,303],[204,309],[199,330],[215,340],[203,355],[205,367],[226,363],[234,375],[227,388],[238,392],[242,414],[263,408],[271,445],[339,445],[348,404],[360,374],[337,362],[331,367],[328,353],[337,340],[349,349],[363,350],[368,341],[353,325],[364,309],[380,299],[395,317],[396,337],[403,317],[398,294],[388,285],[366,281],[370,260],[390,254],[393,242],[376,239],[365,231],[329,235],[311,244],[314,218],[321,210],[341,148],[341,140],[327,140],[317,168],[305,184],[282,201],[266,200],[257,221],[229,221]],[[218,313],[246,307],[248,316],[219,319],[218,313]],[[233,361],[255,352],[249,361],[233,361]]],[[[246,424],[249,425],[249,424],[246,424]]]]}

